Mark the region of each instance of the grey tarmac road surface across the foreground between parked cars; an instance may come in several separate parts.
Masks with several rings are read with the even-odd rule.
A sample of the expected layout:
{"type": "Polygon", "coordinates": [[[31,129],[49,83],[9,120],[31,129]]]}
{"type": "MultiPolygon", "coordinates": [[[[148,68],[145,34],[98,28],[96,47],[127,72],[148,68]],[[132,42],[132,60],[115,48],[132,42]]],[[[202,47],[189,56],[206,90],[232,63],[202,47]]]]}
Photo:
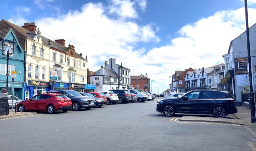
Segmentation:
{"type": "Polygon", "coordinates": [[[156,100],[0,120],[0,151],[251,151],[256,146],[239,125],[172,122],[155,111],[156,100]]]}

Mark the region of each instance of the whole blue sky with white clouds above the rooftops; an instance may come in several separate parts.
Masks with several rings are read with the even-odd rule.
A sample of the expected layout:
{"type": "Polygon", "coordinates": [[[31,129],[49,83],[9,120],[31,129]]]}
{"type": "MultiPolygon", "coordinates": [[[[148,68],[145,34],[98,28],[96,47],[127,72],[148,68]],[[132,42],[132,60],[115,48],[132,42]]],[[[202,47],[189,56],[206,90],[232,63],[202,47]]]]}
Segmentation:
{"type": "MultiPolygon", "coordinates": [[[[250,27],[256,0],[247,3],[250,27]]],[[[115,58],[131,75],[147,74],[155,93],[176,70],[224,63],[246,28],[244,0],[2,0],[0,9],[1,19],[35,22],[44,37],[74,45],[90,71],[115,58]]]]}

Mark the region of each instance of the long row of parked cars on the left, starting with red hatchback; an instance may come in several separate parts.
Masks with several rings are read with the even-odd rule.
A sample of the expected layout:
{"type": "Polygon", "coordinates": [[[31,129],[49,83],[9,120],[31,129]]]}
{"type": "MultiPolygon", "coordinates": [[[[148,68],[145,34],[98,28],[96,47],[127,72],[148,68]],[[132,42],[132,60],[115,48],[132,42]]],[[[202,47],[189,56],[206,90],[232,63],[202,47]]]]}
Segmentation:
{"type": "Polygon", "coordinates": [[[144,102],[146,100],[153,100],[152,95],[137,90],[118,89],[89,93],[78,93],[74,90],[50,90],[28,100],[20,100],[16,105],[16,110],[54,113],[58,110],[66,112],[70,108],[77,111],[81,108],[101,107],[103,104],[144,102]]]}

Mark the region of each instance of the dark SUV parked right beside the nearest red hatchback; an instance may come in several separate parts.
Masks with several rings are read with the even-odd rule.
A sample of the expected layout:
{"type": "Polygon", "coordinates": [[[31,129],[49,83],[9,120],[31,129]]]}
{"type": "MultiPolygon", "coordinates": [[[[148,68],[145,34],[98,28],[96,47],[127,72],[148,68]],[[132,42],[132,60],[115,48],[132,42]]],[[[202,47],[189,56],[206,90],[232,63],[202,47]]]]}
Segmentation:
{"type": "MultiPolygon", "coordinates": [[[[95,99],[91,99],[91,97],[83,96],[79,94],[77,91],[74,90],[51,90],[56,91],[60,94],[64,94],[69,97],[72,101],[72,108],[73,110],[80,110],[81,108],[90,109],[95,106],[95,99]]],[[[49,91],[49,92],[51,92],[49,91]]]]}

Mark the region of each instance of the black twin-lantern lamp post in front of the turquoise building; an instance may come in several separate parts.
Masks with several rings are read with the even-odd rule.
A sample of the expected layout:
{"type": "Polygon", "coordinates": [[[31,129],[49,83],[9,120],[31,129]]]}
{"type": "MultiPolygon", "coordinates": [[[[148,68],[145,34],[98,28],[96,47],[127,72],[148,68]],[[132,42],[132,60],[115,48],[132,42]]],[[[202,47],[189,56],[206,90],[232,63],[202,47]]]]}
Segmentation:
{"type": "MultiPolygon", "coordinates": [[[[7,70],[6,70],[6,95],[8,95],[8,76],[9,76],[9,57],[10,55],[14,54],[14,49],[17,48],[18,43],[16,42],[16,40],[13,38],[13,40],[11,42],[9,42],[10,47],[11,47],[11,53],[9,52],[9,49],[7,49],[7,53],[5,53],[5,50],[7,48],[7,44],[5,44],[4,40],[1,39],[2,43],[0,44],[0,49],[2,51],[2,55],[6,56],[7,59],[7,70]]],[[[7,112],[9,110],[8,107],[8,102],[7,102],[7,112]]],[[[8,112],[9,114],[9,112],[8,112]]]]}

